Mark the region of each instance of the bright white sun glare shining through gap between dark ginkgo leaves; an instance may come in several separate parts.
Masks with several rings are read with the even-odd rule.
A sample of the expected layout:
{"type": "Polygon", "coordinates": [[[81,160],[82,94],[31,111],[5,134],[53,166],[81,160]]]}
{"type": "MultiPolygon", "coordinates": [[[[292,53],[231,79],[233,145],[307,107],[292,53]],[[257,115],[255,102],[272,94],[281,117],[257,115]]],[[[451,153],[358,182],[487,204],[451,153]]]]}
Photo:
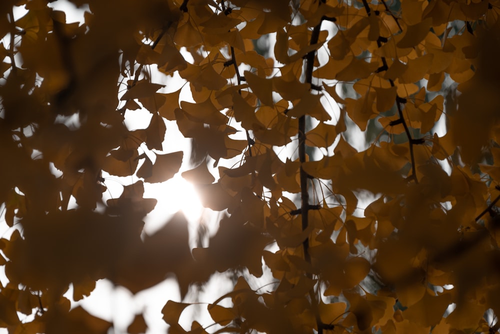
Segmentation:
{"type": "Polygon", "coordinates": [[[180,174],[161,183],[144,183],[144,198],[156,198],[157,203],[148,216],[144,229],[147,233],[160,228],[166,217],[181,210],[190,223],[201,219],[204,207],[194,186],[180,174]]]}

